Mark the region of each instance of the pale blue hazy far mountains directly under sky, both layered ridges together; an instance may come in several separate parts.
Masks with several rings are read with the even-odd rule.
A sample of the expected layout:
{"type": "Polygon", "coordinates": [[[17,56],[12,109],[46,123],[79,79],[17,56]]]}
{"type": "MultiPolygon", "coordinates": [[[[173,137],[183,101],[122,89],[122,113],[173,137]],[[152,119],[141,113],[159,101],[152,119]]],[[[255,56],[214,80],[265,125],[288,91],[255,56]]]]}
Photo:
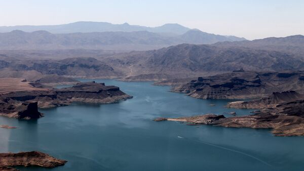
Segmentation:
{"type": "Polygon", "coordinates": [[[149,50],[181,43],[211,44],[240,41],[244,38],[222,36],[189,29],[178,24],[160,27],[76,22],[54,26],[0,27],[0,49],[107,49],[149,50]]]}

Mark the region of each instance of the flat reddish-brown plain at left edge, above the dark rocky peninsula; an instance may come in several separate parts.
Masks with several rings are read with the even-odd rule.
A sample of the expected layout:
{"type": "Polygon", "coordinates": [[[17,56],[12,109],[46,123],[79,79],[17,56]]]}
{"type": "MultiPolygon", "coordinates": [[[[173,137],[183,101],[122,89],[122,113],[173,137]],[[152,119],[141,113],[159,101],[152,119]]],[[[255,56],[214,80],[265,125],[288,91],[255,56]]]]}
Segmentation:
{"type": "Polygon", "coordinates": [[[45,88],[36,88],[22,78],[0,78],[0,94],[6,94],[16,91],[48,90],[45,88]]]}

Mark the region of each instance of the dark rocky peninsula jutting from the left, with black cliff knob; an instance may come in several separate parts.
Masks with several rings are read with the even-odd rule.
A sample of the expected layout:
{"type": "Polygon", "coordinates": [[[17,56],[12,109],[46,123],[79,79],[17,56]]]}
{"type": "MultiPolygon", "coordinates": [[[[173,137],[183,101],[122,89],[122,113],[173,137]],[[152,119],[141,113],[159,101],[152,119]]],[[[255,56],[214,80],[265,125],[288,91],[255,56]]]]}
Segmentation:
{"type": "Polygon", "coordinates": [[[0,115],[16,119],[42,117],[40,108],[69,105],[71,102],[113,103],[132,98],[119,87],[104,83],[78,83],[72,87],[43,91],[18,91],[0,96],[0,115]]]}

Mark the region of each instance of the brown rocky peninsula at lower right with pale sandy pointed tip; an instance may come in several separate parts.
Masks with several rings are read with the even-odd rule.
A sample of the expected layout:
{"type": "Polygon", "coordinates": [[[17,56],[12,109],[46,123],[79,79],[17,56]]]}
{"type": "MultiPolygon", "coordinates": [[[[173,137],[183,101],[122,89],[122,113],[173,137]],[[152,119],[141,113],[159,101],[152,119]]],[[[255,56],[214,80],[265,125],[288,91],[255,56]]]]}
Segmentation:
{"type": "Polygon", "coordinates": [[[255,111],[254,115],[225,118],[222,115],[201,115],[163,118],[156,121],[181,121],[195,125],[235,128],[271,128],[275,136],[304,136],[304,100],[282,103],[274,108],[255,111]]]}

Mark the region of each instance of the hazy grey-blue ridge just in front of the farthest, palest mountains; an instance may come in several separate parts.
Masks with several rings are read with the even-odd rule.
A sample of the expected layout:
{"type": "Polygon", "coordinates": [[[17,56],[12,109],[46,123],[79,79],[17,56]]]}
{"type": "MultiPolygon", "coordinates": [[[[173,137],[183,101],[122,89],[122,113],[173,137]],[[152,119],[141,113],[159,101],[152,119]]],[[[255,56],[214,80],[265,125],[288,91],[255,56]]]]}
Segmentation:
{"type": "Polygon", "coordinates": [[[199,30],[181,36],[148,31],[90,32],[52,34],[47,31],[23,32],[14,30],[0,33],[0,50],[103,49],[148,50],[180,43],[211,44],[218,41],[244,40],[243,38],[214,35],[199,30]],[[197,39],[194,39],[197,37],[197,39]]]}

